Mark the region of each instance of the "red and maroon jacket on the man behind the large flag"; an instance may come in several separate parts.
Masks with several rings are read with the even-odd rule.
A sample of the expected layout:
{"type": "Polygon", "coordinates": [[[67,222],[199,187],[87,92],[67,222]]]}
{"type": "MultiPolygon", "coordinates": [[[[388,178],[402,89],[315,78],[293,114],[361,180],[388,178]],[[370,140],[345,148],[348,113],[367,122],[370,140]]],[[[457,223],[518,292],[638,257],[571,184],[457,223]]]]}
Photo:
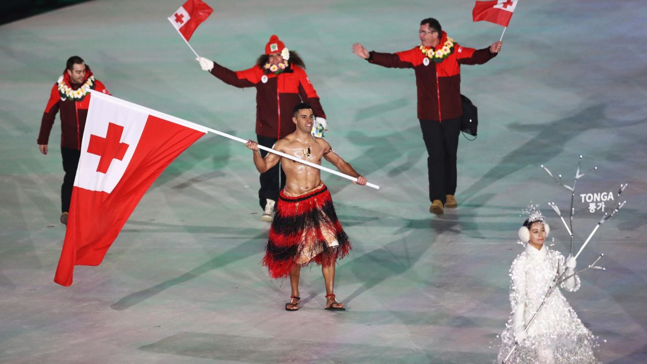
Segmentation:
{"type": "MultiPolygon", "coordinates": [[[[93,77],[90,67],[85,66],[85,78],[83,84],[87,82],[88,78],[93,77]]],[[[87,108],[90,106],[90,93],[86,93],[82,98],[69,98],[59,90],[59,83],[65,84],[72,89],[76,90],[82,85],[72,85],[70,75],[63,71],[63,76],[59,78],[52,86],[52,91],[49,95],[49,101],[43,113],[43,120],[41,120],[41,130],[38,134],[38,144],[49,144],[49,133],[54,125],[56,113],[61,111],[61,147],[81,150],[81,139],[83,139],[83,130],[85,129],[85,118],[87,117],[87,108]]],[[[99,80],[94,80],[91,89],[101,91],[110,95],[104,84],[99,80]]]]}

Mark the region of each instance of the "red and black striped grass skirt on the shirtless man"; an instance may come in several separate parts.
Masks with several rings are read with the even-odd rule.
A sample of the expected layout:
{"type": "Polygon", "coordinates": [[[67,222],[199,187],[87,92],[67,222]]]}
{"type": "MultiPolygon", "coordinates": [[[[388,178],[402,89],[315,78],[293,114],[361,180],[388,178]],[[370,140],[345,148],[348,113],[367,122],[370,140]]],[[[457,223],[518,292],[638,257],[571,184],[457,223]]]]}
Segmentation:
{"type": "Polygon", "coordinates": [[[329,267],[350,250],[351,242],[337,220],[333,199],[323,183],[297,196],[281,190],[263,258],[270,277],[289,277],[296,264],[315,262],[329,267]],[[335,240],[339,245],[333,247],[335,240]]]}

